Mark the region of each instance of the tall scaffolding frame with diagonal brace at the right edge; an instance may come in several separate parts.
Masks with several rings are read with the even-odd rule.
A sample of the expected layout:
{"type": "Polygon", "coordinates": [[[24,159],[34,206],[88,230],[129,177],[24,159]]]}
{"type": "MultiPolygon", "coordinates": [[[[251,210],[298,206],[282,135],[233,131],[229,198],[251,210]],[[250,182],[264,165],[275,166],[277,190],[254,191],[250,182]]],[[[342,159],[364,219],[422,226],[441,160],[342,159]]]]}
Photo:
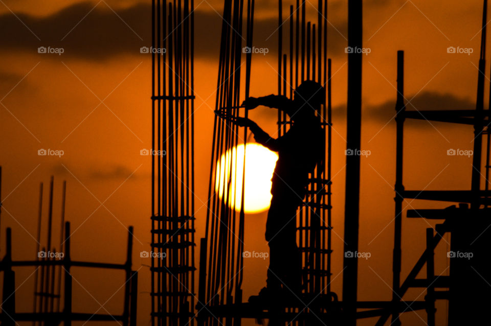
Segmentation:
{"type": "MultiPolygon", "coordinates": [[[[429,326],[435,325],[435,301],[436,300],[448,300],[450,305],[454,307],[454,312],[449,308],[449,322],[451,324],[460,324],[464,320],[463,316],[467,313],[461,312],[463,310],[460,298],[465,296],[465,300],[473,302],[478,306],[480,299],[473,299],[465,295],[465,292],[458,289],[456,285],[460,283],[469,283],[469,280],[462,278],[465,273],[462,272],[466,267],[465,264],[460,264],[454,261],[450,261],[450,275],[449,276],[435,276],[434,271],[434,250],[443,239],[445,234],[457,234],[456,239],[451,238],[450,246],[453,248],[470,248],[477,240],[474,240],[471,244],[465,243],[459,237],[468,237],[465,232],[460,232],[462,228],[466,228],[466,231],[472,234],[472,227],[477,226],[465,226],[465,225],[478,225],[482,223],[480,219],[489,216],[491,211],[489,210],[489,199],[491,192],[488,190],[488,176],[489,176],[489,153],[490,153],[490,133],[489,124],[491,123],[491,102],[490,109],[484,111],[484,69],[486,58],[486,25],[487,25],[487,0],[483,2],[483,17],[482,17],[482,30],[481,30],[481,50],[479,58],[479,73],[477,83],[477,101],[476,108],[474,110],[406,110],[405,97],[404,97],[404,51],[397,52],[397,101],[396,101],[396,181],[394,191],[396,196],[395,200],[395,227],[394,227],[394,250],[393,250],[393,296],[392,296],[392,311],[386,312],[381,315],[376,325],[382,326],[387,319],[391,316],[391,324],[400,325],[399,320],[400,311],[395,309],[398,302],[403,298],[405,293],[410,288],[426,288],[427,295],[425,297],[424,309],[427,312],[427,322],[429,326]],[[471,172],[471,190],[456,190],[456,191],[429,191],[429,190],[405,190],[403,183],[403,156],[404,156],[404,123],[406,119],[413,120],[426,120],[436,121],[443,123],[455,123],[461,125],[470,125],[474,127],[474,149],[472,160],[472,172],[471,172]],[[487,134],[486,142],[486,163],[485,168],[485,189],[481,190],[481,170],[482,170],[482,136],[487,134]],[[401,277],[401,238],[402,238],[402,214],[403,214],[403,202],[406,199],[421,199],[432,201],[444,201],[444,202],[459,202],[459,206],[452,205],[443,209],[408,209],[408,218],[425,218],[425,219],[437,219],[443,220],[443,223],[436,224],[435,228],[430,227],[426,229],[426,249],[421,254],[420,258],[406,276],[404,282],[400,282],[401,277]],[[463,220],[468,218],[469,220],[463,220]],[[426,265],[426,278],[417,278],[418,273],[426,265]],[[453,276],[453,273],[459,273],[453,276]],[[443,289],[443,290],[441,290],[443,289]]],[[[491,100],[491,92],[490,98],[491,100]]],[[[489,227],[489,222],[484,222],[482,226],[482,233],[489,227]],[[487,225],[487,227],[486,227],[487,225]]],[[[482,234],[481,234],[482,235],[482,234]]],[[[474,247],[479,252],[477,246],[474,247]]],[[[479,262],[477,263],[479,264],[479,262]]],[[[481,304],[482,305],[482,304],[481,304]]],[[[408,306],[409,308],[410,306],[408,306]]],[[[411,308],[412,309],[412,308],[411,308]]]]}

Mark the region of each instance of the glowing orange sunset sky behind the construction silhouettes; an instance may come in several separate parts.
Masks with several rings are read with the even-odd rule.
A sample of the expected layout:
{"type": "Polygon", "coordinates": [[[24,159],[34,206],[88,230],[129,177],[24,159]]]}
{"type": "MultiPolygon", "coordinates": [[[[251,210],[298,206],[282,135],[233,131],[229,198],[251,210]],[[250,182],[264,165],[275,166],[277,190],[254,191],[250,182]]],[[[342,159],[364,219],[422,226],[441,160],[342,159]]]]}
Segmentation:
{"type": "MultiPolygon", "coordinates": [[[[217,12],[221,14],[221,1],[195,0],[195,3],[199,4],[196,20],[203,24],[210,22],[206,26],[197,25],[196,30],[201,33],[198,34],[203,39],[214,39],[218,44],[218,34],[206,33],[207,30],[219,31],[217,12]],[[203,19],[199,20],[200,17],[203,19]]],[[[372,258],[360,261],[359,297],[364,300],[389,299],[391,290],[385,283],[391,284],[389,262],[393,238],[393,224],[390,222],[394,211],[395,123],[390,119],[395,113],[396,51],[406,51],[405,91],[408,99],[415,96],[412,103],[417,105],[417,109],[438,109],[454,103],[466,106],[462,108],[474,108],[482,4],[456,0],[371,0],[364,4],[364,46],[370,48],[371,53],[364,57],[363,66],[362,148],[370,150],[372,155],[362,158],[360,250],[372,252],[372,258]],[[474,53],[448,54],[449,46],[472,48],[474,53]],[[418,101],[421,98],[425,101],[418,101]]],[[[258,2],[256,26],[264,28],[255,29],[254,44],[257,46],[276,44],[275,6],[273,1],[258,2]],[[268,37],[270,39],[266,40],[268,37]]],[[[150,42],[148,8],[149,2],[130,0],[52,1],[42,6],[39,2],[27,0],[0,2],[0,27],[7,28],[7,34],[19,35],[17,40],[7,34],[0,37],[0,44],[3,44],[0,45],[0,102],[4,105],[0,105],[0,165],[3,167],[2,195],[5,198],[0,250],[5,250],[5,228],[10,226],[16,249],[14,259],[34,258],[35,241],[32,237],[36,232],[38,184],[43,181],[47,187],[49,176],[55,176],[55,216],[58,219],[61,182],[67,180],[66,218],[72,222],[72,230],[76,229],[72,246],[74,258],[122,262],[126,227],[135,226],[133,268],[141,267],[139,324],[149,321],[150,301],[149,270],[145,266],[150,262],[139,257],[141,250],[148,250],[150,241],[151,166],[148,157],[140,155],[140,150],[151,147],[151,62],[149,56],[138,51],[142,44],[150,42]],[[148,16],[136,15],[126,23],[125,18],[138,5],[141,8],[135,12],[148,12],[148,16]],[[91,8],[95,9],[90,11],[91,8]],[[122,19],[109,8],[120,13],[122,19]],[[60,10],[79,19],[50,27],[50,22],[63,21],[63,17],[59,17],[60,10]],[[11,11],[26,21],[27,26],[21,24],[11,11]],[[83,19],[85,14],[86,20],[83,19]],[[86,24],[87,21],[97,24],[98,19],[109,16],[114,19],[110,20],[114,25],[86,24]],[[106,44],[100,51],[84,50],[84,46],[98,44],[98,39],[109,38],[114,31],[125,40],[115,39],[114,44],[106,44]],[[88,32],[93,34],[87,35],[88,32]],[[61,46],[66,42],[65,53],[60,56],[38,54],[38,46],[50,45],[44,40],[57,40],[56,44],[61,46]],[[40,148],[61,149],[64,155],[61,158],[38,156],[40,148]],[[100,202],[104,202],[105,207],[99,207],[100,202]]],[[[315,14],[313,6],[307,5],[307,10],[309,15],[315,14]]],[[[287,12],[286,7],[284,12],[287,12]]],[[[333,59],[334,74],[334,276],[342,270],[343,250],[343,242],[337,235],[343,235],[344,216],[346,12],[346,1],[329,2],[328,18],[332,24],[329,26],[329,55],[333,59]]],[[[203,39],[196,42],[201,44],[203,39]]],[[[196,239],[204,235],[206,207],[200,206],[207,196],[218,62],[216,47],[210,45],[209,48],[206,44],[197,45],[195,62],[196,239]]],[[[275,92],[275,51],[272,49],[266,56],[253,56],[251,95],[275,92]]],[[[486,71],[488,69],[489,65],[486,71]]],[[[274,130],[275,114],[268,114],[266,109],[254,111],[252,118],[265,126],[266,131],[274,130]]],[[[406,189],[468,189],[470,159],[447,156],[446,153],[449,148],[472,149],[472,139],[472,129],[468,127],[430,125],[428,122],[408,124],[406,189]]],[[[46,214],[47,201],[44,203],[46,214]]],[[[412,206],[416,204],[428,206],[417,201],[411,203],[412,206]]],[[[444,207],[444,204],[434,203],[433,206],[444,207]]],[[[249,242],[246,250],[266,250],[264,223],[264,213],[248,216],[245,236],[249,242]]],[[[403,223],[405,275],[423,250],[423,229],[428,224],[407,219],[403,223]]],[[[436,257],[444,258],[437,260],[437,273],[446,267],[446,249],[442,246],[438,250],[436,257]]],[[[246,262],[245,298],[264,285],[266,267],[267,261],[246,262]]],[[[19,272],[18,280],[28,279],[30,273],[19,272]]],[[[102,303],[119,287],[119,281],[99,276],[100,283],[94,284],[88,276],[74,274],[80,284],[102,303]]],[[[341,280],[339,276],[333,282],[333,290],[339,294],[341,280]]],[[[19,293],[30,295],[32,289],[32,282],[28,280],[23,285],[25,292],[19,293]]],[[[85,306],[81,306],[89,310],[99,308],[82,288],[79,290],[79,302],[85,302],[85,306]]],[[[417,297],[418,294],[410,295],[417,297]]],[[[108,310],[121,307],[117,297],[120,295],[108,302],[108,310]]],[[[20,302],[18,305],[24,307],[20,302]]],[[[26,310],[30,309],[30,302],[25,306],[26,310]]],[[[444,307],[441,308],[439,313],[444,311],[444,307]]],[[[412,321],[414,325],[422,323],[415,314],[405,315],[405,321],[412,321]]],[[[365,322],[372,323],[363,321],[361,324],[365,322]]]]}

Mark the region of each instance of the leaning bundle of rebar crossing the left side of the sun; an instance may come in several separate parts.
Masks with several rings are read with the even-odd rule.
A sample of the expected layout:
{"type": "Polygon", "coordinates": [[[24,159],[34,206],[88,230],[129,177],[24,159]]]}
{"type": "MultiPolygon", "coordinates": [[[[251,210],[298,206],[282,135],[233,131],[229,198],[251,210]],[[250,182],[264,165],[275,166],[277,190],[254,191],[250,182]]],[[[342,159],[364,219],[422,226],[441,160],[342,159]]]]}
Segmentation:
{"type": "MultiPolygon", "coordinates": [[[[215,109],[222,117],[238,117],[241,100],[249,96],[254,0],[247,1],[245,38],[242,32],[244,9],[243,0],[224,2],[215,103],[215,109]],[[242,49],[242,39],[245,39],[245,46],[249,51],[242,49]],[[243,53],[245,53],[245,94],[241,97],[243,53]]],[[[243,116],[247,118],[247,112],[243,112],[243,116]]],[[[233,206],[230,204],[231,197],[235,196],[235,189],[232,189],[230,183],[232,173],[236,172],[231,166],[233,159],[226,162],[229,167],[220,166],[220,171],[215,171],[216,162],[220,161],[223,154],[228,151],[232,153],[232,148],[237,146],[239,141],[245,143],[247,128],[244,129],[243,134],[239,135],[238,125],[234,125],[230,119],[222,119],[215,115],[206,230],[205,238],[200,241],[199,290],[196,306],[199,325],[217,325],[224,320],[224,317],[227,324],[239,325],[241,314],[244,312],[239,311],[241,310],[239,305],[242,304],[244,196],[240,203],[234,200],[233,206]],[[221,180],[224,182],[224,195],[219,198],[215,184],[220,182],[220,175],[225,177],[221,169],[229,173],[227,176],[229,182],[221,180]],[[240,205],[238,218],[236,205],[240,205]]],[[[242,183],[242,194],[243,187],[244,183],[242,183]]]]}

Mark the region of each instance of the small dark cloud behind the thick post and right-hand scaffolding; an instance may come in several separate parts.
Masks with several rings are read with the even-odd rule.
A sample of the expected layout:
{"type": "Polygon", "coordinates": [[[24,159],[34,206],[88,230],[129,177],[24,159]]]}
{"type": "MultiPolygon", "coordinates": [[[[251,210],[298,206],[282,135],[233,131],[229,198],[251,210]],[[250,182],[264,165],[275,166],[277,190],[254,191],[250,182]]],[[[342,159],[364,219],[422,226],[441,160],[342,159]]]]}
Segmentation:
{"type": "MultiPolygon", "coordinates": [[[[408,97],[408,100],[412,97],[408,97]]],[[[440,94],[437,92],[422,92],[414,97],[410,104],[407,105],[408,111],[415,110],[458,110],[458,109],[475,109],[476,103],[471,99],[458,98],[452,94],[440,94]]],[[[346,119],[346,105],[334,107],[333,116],[336,118],[346,119]]],[[[395,115],[395,99],[387,101],[380,105],[367,106],[363,110],[363,118],[386,123],[395,115]]],[[[420,124],[427,126],[428,124],[420,124]]]]}

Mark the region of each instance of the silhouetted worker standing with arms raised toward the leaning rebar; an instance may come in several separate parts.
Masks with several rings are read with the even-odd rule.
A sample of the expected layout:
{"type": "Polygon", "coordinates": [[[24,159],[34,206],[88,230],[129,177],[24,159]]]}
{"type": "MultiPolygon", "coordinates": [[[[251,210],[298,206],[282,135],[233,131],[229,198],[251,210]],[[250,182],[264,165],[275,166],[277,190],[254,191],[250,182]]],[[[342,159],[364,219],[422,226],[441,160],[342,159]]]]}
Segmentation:
{"type": "Polygon", "coordinates": [[[325,99],[324,88],[305,81],[295,90],[294,100],[270,95],[248,98],[243,102],[251,110],[259,105],[284,111],[292,120],[289,130],[272,138],[259,126],[245,118],[237,118],[240,126],[248,126],[256,142],[278,152],[273,174],[270,210],[266,221],[266,241],[270,247],[270,266],[266,287],[251,302],[271,304],[270,299],[295,297],[302,290],[301,254],[297,246],[296,216],[308,185],[308,174],[314,172],[323,153],[323,129],[315,111],[325,99]],[[293,293],[292,293],[293,292],[293,293]]]}

